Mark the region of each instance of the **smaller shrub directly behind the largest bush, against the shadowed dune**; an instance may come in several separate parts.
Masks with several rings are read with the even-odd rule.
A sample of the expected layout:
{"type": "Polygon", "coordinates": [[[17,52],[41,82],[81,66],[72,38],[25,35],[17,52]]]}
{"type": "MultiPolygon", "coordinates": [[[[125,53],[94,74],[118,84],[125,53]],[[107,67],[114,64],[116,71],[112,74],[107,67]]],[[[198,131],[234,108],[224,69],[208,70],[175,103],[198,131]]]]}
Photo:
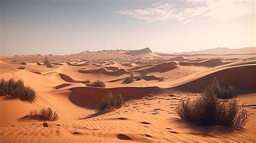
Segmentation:
{"type": "Polygon", "coordinates": [[[214,78],[212,83],[208,84],[203,92],[207,94],[209,90],[213,90],[214,94],[221,99],[229,99],[235,97],[233,86],[225,81],[219,82],[217,78],[214,78]]]}

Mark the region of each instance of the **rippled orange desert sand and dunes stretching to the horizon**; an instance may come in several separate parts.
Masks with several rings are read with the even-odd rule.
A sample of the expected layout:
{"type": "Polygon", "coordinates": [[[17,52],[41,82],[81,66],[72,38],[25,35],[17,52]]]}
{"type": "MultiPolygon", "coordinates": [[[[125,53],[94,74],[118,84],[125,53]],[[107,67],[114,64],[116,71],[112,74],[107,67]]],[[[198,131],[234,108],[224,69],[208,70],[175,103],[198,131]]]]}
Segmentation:
{"type": "Polygon", "coordinates": [[[145,48],[0,56],[0,78],[22,78],[37,95],[32,104],[0,97],[0,142],[255,142],[255,49],[166,54],[145,48]],[[53,68],[43,64],[45,57],[53,68]],[[21,65],[23,61],[27,65],[21,65]],[[18,69],[21,66],[25,69],[18,69]],[[142,80],[123,83],[142,70],[149,71],[142,80]],[[160,77],[164,81],[159,82],[160,77]],[[239,104],[245,103],[251,114],[244,128],[197,126],[178,118],[177,104],[200,96],[214,77],[235,85],[239,104]],[[87,87],[81,83],[85,80],[102,80],[106,87],[87,87]],[[125,104],[96,113],[96,104],[109,91],[121,94],[125,104]],[[42,108],[57,111],[59,120],[46,121],[49,127],[43,126],[44,121],[18,121],[42,108]]]}

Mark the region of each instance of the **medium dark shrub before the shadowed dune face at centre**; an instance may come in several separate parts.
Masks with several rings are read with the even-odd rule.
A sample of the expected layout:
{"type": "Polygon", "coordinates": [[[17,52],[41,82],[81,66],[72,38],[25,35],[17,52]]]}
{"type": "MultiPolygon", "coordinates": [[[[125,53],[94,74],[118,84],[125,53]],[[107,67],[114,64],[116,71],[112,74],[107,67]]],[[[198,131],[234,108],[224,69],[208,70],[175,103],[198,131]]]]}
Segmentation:
{"type": "Polygon", "coordinates": [[[113,95],[109,92],[109,94],[107,94],[106,97],[104,97],[96,106],[96,112],[100,112],[104,109],[106,109],[106,111],[112,111],[114,109],[121,108],[123,104],[123,97],[120,94],[113,95]]]}

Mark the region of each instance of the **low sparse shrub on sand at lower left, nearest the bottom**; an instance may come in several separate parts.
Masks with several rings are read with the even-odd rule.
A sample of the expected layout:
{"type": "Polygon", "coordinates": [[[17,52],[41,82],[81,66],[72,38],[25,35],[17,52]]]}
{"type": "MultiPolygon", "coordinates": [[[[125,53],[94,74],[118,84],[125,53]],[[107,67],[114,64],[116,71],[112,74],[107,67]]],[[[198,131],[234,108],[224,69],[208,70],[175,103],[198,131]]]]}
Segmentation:
{"type": "Polygon", "coordinates": [[[22,118],[19,118],[20,121],[22,120],[41,120],[41,121],[55,121],[59,119],[58,113],[55,111],[53,112],[51,108],[43,108],[40,112],[37,110],[30,111],[29,115],[26,115],[22,118]]]}

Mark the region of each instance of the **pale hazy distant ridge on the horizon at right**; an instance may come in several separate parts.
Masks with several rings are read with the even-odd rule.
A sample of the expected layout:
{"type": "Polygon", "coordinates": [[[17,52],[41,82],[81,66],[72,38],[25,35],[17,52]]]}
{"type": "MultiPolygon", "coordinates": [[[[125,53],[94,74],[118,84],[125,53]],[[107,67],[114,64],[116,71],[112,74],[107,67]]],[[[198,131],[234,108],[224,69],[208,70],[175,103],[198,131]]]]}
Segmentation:
{"type": "Polygon", "coordinates": [[[246,47],[240,49],[230,49],[230,48],[214,48],[214,49],[205,49],[202,51],[193,51],[193,52],[181,52],[181,53],[174,53],[175,55],[187,54],[256,54],[256,47],[246,47]]]}

